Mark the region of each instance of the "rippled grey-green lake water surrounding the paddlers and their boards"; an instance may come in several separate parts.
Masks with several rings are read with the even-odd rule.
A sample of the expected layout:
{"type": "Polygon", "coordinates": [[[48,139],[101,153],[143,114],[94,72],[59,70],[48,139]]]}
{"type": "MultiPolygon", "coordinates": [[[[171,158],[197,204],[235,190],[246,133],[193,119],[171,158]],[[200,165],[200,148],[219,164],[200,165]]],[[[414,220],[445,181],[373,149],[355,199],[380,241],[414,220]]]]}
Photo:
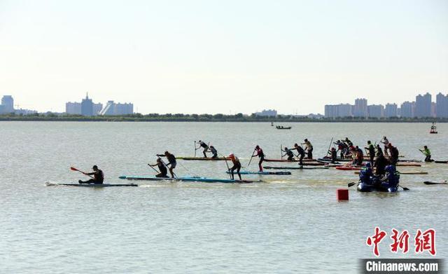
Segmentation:
{"type": "MultiPolygon", "coordinates": [[[[430,135],[427,123],[71,123],[0,122],[1,273],[357,273],[372,258],[367,236],[388,233],[380,258],[414,254],[416,229],[435,228],[437,257],[448,254],[448,165],[400,170],[410,191],[358,193],[338,203],[336,189],[355,181],[352,171],[293,170],[262,177],[260,184],[139,181],[137,188],[45,186],[45,181],[85,179],[69,167],[97,164],[106,181],[122,174],[151,175],[155,153],[193,156],[194,140],[235,153],[247,165],[255,144],[268,158],[280,145],[307,137],[315,158],[331,137],[355,144],[386,135],[405,158],[419,158],[427,144],[433,158],[448,160],[448,125],[430,135]],[[287,123],[283,125],[288,125],[287,123]],[[391,228],[411,234],[410,252],[393,254],[391,228]]],[[[198,155],[200,151],[197,151],[198,155]]],[[[275,165],[269,163],[269,165],[275,165]]],[[[280,165],[280,164],[276,164],[280,165]]],[[[282,163],[281,165],[296,165],[282,163]]],[[[249,167],[256,169],[254,159],[249,167]]],[[[225,162],[178,161],[176,174],[227,178],[225,162]]],[[[258,176],[245,178],[259,178],[258,176]]]]}

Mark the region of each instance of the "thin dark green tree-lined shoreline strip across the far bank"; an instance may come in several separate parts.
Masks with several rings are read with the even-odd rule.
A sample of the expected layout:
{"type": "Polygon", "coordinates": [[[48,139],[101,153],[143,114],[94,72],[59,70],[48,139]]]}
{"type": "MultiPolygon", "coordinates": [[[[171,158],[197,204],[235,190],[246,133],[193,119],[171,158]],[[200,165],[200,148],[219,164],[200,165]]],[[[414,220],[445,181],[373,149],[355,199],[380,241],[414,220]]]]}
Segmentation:
{"type": "Polygon", "coordinates": [[[223,115],[223,114],[133,114],[128,116],[56,116],[55,114],[34,114],[27,116],[0,115],[0,121],[59,121],[59,122],[246,122],[246,123],[448,123],[448,118],[306,118],[277,116],[223,115]]]}

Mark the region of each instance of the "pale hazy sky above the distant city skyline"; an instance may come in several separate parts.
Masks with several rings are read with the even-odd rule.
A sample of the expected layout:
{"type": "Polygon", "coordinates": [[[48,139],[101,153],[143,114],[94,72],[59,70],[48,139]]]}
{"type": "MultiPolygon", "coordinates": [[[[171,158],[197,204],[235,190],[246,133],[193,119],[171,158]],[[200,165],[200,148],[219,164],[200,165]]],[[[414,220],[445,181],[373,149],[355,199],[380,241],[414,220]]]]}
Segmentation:
{"type": "Polygon", "coordinates": [[[448,93],[448,1],[0,0],[0,95],[64,111],[87,91],[144,114],[448,93]]]}

